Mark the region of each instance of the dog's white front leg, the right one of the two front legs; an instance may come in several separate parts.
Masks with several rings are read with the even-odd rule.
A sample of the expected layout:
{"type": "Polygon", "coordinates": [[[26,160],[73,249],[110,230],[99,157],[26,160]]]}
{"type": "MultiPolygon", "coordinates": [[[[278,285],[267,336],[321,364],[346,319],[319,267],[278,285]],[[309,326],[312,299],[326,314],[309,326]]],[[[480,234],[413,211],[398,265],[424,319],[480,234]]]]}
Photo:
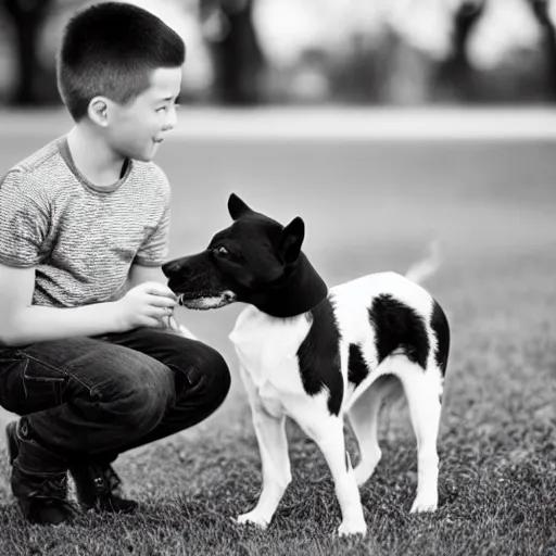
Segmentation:
{"type": "Polygon", "coordinates": [[[325,456],[332,478],[336,494],[342,511],[342,522],[338,529],[340,536],[350,534],[366,534],[367,526],[363,517],[359,489],[355,482],[355,475],[345,450],[343,434],[343,419],[328,416],[328,418],[314,419],[312,422],[298,424],[316,442],[325,456]]]}

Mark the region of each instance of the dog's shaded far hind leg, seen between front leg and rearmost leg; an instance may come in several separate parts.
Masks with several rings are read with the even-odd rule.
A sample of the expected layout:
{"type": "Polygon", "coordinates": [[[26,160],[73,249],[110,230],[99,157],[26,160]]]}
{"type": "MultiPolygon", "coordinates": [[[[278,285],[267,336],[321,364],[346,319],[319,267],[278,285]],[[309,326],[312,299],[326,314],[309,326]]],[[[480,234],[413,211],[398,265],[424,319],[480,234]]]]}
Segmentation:
{"type": "Polygon", "coordinates": [[[356,400],[348,412],[350,424],[357,439],[361,460],[354,468],[358,485],[375,472],[382,452],[378,443],[378,417],[384,397],[401,393],[400,381],[392,376],[381,377],[356,400]]]}

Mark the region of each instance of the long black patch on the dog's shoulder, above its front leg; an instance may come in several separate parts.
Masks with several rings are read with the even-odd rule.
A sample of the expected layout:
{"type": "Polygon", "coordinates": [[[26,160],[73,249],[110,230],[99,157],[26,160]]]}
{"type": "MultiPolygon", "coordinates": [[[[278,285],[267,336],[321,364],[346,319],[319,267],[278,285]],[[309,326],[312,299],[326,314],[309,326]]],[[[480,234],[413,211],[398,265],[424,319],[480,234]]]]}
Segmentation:
{"type": "Polygon", "coordinates": [[[308,395],[316,395],[326,387],[330,392],[328,409],[331,415],[338,415],[343,399],[343,380],[340,330],[330,296],[308,314],[313,324],[298,350],[303,389],[308,395]]]}

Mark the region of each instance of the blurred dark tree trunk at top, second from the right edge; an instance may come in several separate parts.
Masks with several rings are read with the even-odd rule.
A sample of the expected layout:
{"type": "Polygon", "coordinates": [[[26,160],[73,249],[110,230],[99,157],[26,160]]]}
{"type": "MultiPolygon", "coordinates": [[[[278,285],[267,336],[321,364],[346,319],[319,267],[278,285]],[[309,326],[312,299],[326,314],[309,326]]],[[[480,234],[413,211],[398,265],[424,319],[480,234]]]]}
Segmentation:
{"type": "Polygon", "coordinates": [[[454,33],[448,56],[439,64],[438,85],[454,97],[477,100],[475,71],[469,62],[468,45],[472,31],[484,12],[486,0],[464,0],[454,12],[454,33]]]}

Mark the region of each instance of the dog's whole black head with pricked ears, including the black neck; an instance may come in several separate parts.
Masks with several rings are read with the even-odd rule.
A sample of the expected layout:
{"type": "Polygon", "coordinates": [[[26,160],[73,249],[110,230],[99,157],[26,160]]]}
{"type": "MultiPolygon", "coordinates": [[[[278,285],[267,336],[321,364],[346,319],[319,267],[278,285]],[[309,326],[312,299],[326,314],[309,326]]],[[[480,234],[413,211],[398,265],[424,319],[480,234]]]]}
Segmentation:
{"type": "Polygon", "coordinates": [[[326,296],[326,285],[301,251],[305,226],[300,217],[282,226],[253,211],[233,193],[228,211],[233,224],[217,232],[204,251],[162,267],[168,287],[179,295],[182,305],[208,309],[239,301],[275,316],[292,316],[311,308],[305,308],[307,303],[314,306],[315,294],[320,296],[319,301],[326,296]],[[300,311],[300,288],[309,287],[307,279],[313,280],[314,291],[305,292],[300,311]],[[298,290],[292,288],[292,281],[298,290]]]}

